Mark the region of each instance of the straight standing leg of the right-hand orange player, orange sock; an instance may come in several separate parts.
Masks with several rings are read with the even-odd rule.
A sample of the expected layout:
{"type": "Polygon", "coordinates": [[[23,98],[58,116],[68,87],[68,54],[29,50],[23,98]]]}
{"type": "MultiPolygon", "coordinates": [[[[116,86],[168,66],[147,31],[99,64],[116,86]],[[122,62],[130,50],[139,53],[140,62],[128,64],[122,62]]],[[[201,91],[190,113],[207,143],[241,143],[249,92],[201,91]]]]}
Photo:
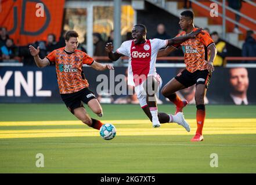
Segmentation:
{"type": "Polygon", "coordinates": [[[197,84],[196,93],[194,95],[194,99],[196,100],[196,122],[197,122],[197,130],[196,135],[191,139],[191,141],[201,141],[203,140],[203,126],[205,119],[205,105],[204,105],[204,97],[206,94],[207,88],[205,84],[197,84]]]}

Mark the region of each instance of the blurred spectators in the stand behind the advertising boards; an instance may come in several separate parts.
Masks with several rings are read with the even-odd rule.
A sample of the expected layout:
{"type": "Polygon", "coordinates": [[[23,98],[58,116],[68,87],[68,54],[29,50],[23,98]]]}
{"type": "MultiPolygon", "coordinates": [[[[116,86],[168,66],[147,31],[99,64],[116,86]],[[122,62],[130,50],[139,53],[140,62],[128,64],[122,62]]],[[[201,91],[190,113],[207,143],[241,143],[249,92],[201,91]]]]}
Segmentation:
{"type": "MultiPolygon", "coordinates": [[[[210,32],[208,28],[204,29],[207,31],[217,46],[217,57],[215,58],[214,65],[215,66],[225,66],[226,65],[226,56],[228,54],[228,50],[226,48],[225,40],[219,38],[219,34],[216,31],[210,32]]],[[[181,32],[181,31],[180,31],[181,32]]],[[[65,39],[64,36],[66,31],[63,31],[60,38],[56,39],[55,34],[48,34],[46,40],[38,40],[35,43],[31,43],[35,48],[40,47],[39,56],[44,58],[51,51],[64,47],[65,39]],[[58,41],[56,41],[58,40],[58,41]]],[[[178,33],[177,33],[178,34],[178,33]]],[[[242,57],[256,57],[256,40],[253,37],[253,31],[247,31],[243,48],[241,50],[242,57]]],[[[114,40],[114,31],[112,30],[108,36],[103,36],[107,34],[100,34],[98,32],[93,33],[93,56],[107,56],[104,47],[106,43],[112,42],[114,40]],[[103,39],[106,38],[106,39],[103,39]]],[[[80,43],[78,46],[79,50],[82,50],[86,53],[86,35],[84,37],[84,42],[80,43]]],[[[158,24],[156,27],[156,34],[152,38],[147,39],[170,39],[171,36],[167,34],[165,31],[164,24],[158,24]]],[[[131,32],[127,32],[125,36],[122,36],[122,42],[125,40],[132,39],[131,32]]],[[[176,50],[170,54],[170,56],[182,56],[182,51],[176,50]]],[[[0,62],[23,62],[24,65],[35,65],[33,57],[30,55],[27,46],[17,46],[13,39],[9,37],[8,32],[5,27],[0,27],[0,62]]],[[[171,61],[162,61],[162,62],[171,62],[171,61]]],[[[244,63],[256,63],[256,61],[242,61],[244,63]]]]}

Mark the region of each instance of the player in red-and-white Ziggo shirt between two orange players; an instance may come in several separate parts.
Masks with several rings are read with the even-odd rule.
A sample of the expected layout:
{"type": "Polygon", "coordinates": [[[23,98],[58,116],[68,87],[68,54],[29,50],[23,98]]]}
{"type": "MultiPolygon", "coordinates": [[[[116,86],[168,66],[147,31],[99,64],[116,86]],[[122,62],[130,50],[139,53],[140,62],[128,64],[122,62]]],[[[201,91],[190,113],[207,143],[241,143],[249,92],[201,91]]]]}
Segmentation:
{"type": "Polygon", "coordinates": [[[186,36],[168,40],[147,40],[146,32],[145,25],[137,24],[132,28],[132,40],[123,42],[114,53],[112,43],[107,43],[105,49],[111,61],[116,61],[121,56],[129,57],[128,85],[135,86],[140,106],[152,121],[153,127],[160,127],[160,123],[174,122],[182,125],[189,132],[189,124],[184,119],[182,112],[171,115],[157,111],[155,95],[161,88],[162,80],[156,73],[156,58],[157,52],[161,48],[193,38],[201,32],[201,29],[186,36]]]}

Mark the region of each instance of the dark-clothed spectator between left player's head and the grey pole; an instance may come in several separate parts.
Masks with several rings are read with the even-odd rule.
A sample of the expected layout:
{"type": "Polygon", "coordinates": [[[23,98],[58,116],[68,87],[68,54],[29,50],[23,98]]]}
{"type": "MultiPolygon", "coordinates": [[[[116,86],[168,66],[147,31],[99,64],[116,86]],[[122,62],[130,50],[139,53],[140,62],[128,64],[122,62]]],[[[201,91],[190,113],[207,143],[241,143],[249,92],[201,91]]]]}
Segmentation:
{"type": "Polygon", "coordinates": [[[93,45],[93,56],[107,56],[107,53],[105,51],[105,42],[102,39],[102,36],[97,32],[93,33],[93,45]]]}

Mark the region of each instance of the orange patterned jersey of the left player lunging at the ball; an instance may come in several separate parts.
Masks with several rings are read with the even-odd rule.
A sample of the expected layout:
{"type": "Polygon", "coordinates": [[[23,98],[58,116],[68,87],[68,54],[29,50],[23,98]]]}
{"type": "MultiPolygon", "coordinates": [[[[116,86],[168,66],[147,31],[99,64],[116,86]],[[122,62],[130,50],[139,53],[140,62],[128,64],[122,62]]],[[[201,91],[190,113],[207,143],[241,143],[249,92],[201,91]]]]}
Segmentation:
{"type": "Polygon", "coordinates": [[[55,62],[60,94],[77,92],[89,86],[82,71],[83,64],[91,65],[93,63],[93,59],[88,54],[80,50],[68,54],[62,47],[53,50],[46,58],[55,62]]]}

